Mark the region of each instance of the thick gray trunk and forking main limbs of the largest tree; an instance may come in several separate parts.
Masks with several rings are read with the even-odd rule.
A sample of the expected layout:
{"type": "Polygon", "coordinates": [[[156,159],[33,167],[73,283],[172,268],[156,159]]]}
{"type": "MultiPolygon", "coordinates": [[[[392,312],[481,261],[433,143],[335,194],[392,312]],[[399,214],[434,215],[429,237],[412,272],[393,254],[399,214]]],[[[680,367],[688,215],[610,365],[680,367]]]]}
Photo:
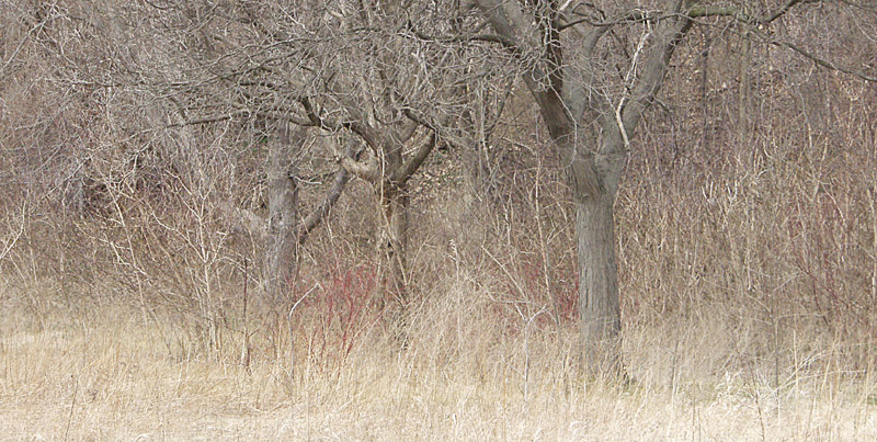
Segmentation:
{"type": "MultiPolygon", "coordinates": [[[[668,0],[665,16],[652,33],[651,44],[639,61],[639,76],[617,104],[595,100],[601,80],[591,66],[597,41],[613,26],[577,30],[582,36],[582,86],[570,87],[559,34],[549,30],[549,41],[535,36],[533,20],[516,1],[478,0],[479,8],[513,52],[544,47],[542,63],[534,64],[523,80],[529,89],[555,148],[565,161],[576,205],[576,238],[579,259],[579,317],[584,367],[593,374],[623,373],[620,358],[620,309],[615,256],[613,204],[618,189],[629,137],[663,84],[676,43],[691,27],[684,12],[690,0],[668,0]],[[547,44],[546,44],[547,43],[547,44]],[[594,125],[585,124],[597,122],[594,125]]],[[[554,20],[551,20],[555,23],[554,20]]],[[[556,26],[553,25],[553,26],[556,26]]],[[[542,50],[540,50],[542,52],[542,50]]],[[[636,63],[636,61],[635,61],[636,63]]]]}

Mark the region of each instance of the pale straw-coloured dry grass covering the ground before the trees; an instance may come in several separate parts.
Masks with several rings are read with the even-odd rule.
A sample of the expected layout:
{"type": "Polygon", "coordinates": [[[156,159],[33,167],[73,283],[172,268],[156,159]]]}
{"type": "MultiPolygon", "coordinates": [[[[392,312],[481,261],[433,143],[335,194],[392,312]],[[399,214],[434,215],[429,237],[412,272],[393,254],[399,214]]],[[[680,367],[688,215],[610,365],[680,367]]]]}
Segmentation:
{"type": "MultiPolygon", "coordinates": [[[[318,325],[301,321],[295,358],[288,339],[257,333],[249,369],[239,333],[209,349],[179,315],[144,319],[114,302],[35,308],[10,288],[0,311],[1,439],[877,438],[877,385],[844,374],[832,342],[799,337],[810,344],[786,349],[799,366],[776,386],[771,364],[722,360],[732,351],[716,347],[728,340],[722,320],[673,317],[625,330],[635,383],[582,382],[566,361],[572,339],[548,328],[510,332],[512,322],[488,314],[490,293],[455,279],[414,315],[406,350],[372,327],[345,360],[318,360],[307,351],[318,325]]],[[[738,348],[756,345],[755,327],[738,329],[738,348]]]]}

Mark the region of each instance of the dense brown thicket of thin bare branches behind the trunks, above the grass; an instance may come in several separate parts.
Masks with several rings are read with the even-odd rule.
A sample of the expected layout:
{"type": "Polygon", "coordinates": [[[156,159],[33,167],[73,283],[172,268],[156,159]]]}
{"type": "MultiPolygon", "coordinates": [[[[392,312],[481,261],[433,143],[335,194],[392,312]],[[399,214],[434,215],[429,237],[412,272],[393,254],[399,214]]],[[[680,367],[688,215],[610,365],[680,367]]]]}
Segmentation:
{"type": "MultiPolygon", "coordinates": [[[[147,322],[175,315],[205,348],[224,336],[281,344],[253,313],[263,245],[228,207],[266,216],[264,165],[284,121],[306,127],[293,157],[301,218],[344,161],[362,172],[298,247],[284,322],[271,327],[327,360],[397,333],[376,303],[395,265],[389,172],[373,167],[391,151],[368,146],[376,131],[406,161],[428,154],[403,191],[396,277],[411,330],[429,332],[447,308],[490,318],[478,324],[492,337],[574,329],[576,215],[517,79],[527,55],[443,41],[478,24],[447,5],[394,16],[258,4],[3,8],[0,277],[52,287],[14,301],[38,311],[49,298],[114,299],[147,322]],[[486,298],[456,305],[460,290],[486,298]]],[[[789,15],[770,34],[702,19],[674,57],[615,206],[624,329],[709,318],[730,330],[710,366],[754,361],[777,376],[798,370],[789,342],[804,335],[840,342],[862,371],[875,361],[877,89],[855,73],[877,64],[874,11],[818,2],[789,15]],[[759,338],[740,349],[734,333],[759,338]]],[[[612,36],[631,54],[636,26],[612,36]]],[[[629,359],[640,344],[628,341],[629,359]]]]}

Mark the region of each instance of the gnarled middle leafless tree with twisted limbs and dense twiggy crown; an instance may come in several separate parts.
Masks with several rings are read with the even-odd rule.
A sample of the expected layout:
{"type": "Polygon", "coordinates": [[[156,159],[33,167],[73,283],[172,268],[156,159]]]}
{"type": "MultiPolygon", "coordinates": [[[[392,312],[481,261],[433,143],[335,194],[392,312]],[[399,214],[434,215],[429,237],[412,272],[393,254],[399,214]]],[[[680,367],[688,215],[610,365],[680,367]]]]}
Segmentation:
{"type": "MultiPolygon", "coordinates": [[[[339,169],[323,199],[328,205],[303,218],[297,239],[319,224],[351,177],[369,183],[380,207],[377,243],[384,285],[405,303],[411,228],[407,185],[440,139],[455,135],[449,127],[463,109],[460,88],[466,84],[466,71],[455,70],[456,47],[432,45],[410,30],[412,23],[433,30],[451,19],[435,5],[406,2],[182,2],[155,8],[161,9],[155,12],[155,26],[173,36],[180,48],[175,65],[187,73],[152,80],[152,86],[179,103],[186,114],[180,124],[261,118],[319,129],[311,136],[320,138],[317,144],[339,169]]],[[[269,219],[283,218],[275,211],[293,202],[273,197],[294,194],[287,188],[295,181],[276,178],[284,174],[276,161],[295,167],[272,152],[269,186],[286,190],[269,190],[269,219]]]]}

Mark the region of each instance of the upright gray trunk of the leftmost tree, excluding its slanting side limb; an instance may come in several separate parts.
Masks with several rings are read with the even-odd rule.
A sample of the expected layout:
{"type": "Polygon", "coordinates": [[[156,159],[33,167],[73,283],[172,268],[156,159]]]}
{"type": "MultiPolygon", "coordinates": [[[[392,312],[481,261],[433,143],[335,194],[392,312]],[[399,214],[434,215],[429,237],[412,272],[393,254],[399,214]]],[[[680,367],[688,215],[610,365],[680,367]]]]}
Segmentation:
{"type": "Polygon", "coordinates": [[[296,212],[298,189],[295,182],[293,144],[287,123],[278,123],[280,136],[269,143],[267,229],[264,249],[264,303],[275,308],[288,293],[295,277],[296,212]]]}

